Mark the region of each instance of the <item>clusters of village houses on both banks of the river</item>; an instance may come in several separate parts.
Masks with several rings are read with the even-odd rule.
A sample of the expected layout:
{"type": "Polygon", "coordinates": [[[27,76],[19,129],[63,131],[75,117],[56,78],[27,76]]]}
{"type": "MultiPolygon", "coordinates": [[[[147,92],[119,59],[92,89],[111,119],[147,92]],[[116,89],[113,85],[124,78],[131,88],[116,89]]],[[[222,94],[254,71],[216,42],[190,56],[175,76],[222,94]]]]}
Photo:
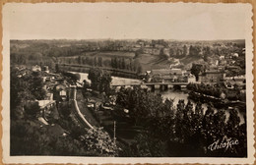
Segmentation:
{"type": "MultiPolygon", "coordinates": [[[[143,45],[143,44],[140,44],[143,45]]],[[[141,83],[133,84],[133,85],[141,85],[147,84],[148,87],[150,87],[150,83],[158,83],[159,89],[161,89],[161,84],[166,85],[168,83],[197,83],[197,84],[208,84],[208,85],[214,85],[217,83],[224,83],[224,86],[228,89],[233,89],[234,87],[238,87],[240,91],[244,90],[245,92],[245,76],[244,75],[237,75],[232,77],[226,77],[226,73],[233,71],[236,72],[237,67],[230,66],[230,64],[233,63],[233,59],[237,58],[238,54],[234,53],[231,56],[223,57],[220,56],[220,59],[216,61],[215,64],[211,66],[203,66],[201,64],[195,64],[195,67],[198,67],[197,75],[193,73],[193,69],[190,70],[182,70],[175,68],[175,66],[170,65],[168,69],[153,69],[151,71],[146,71],[146,73],[143,75],[143,79],[141,80],[141,83]],[[228,65],[227,65],[228,64],[228,65]],[[192,74],[193,73],[193,74],[192,74]],[[196,75],[196,76],[195,76],[196,75]]],[[[67,81],[67,77],[64,77],[62,74],[59,73],[52,73],[49,71],[48,66],[32,66],[31,69],[28,69],[26,67],[17,67],[19,71],[19,78],[22,78],[23,76],[26,76],[26,74],[30,74],[32,72],[40,73],[40,78],[42,80],[43,89],[46,92],[46,97],[42,100],[36,100],[40,111],[37,114],[38,120],[44,124],[48,125],[47,118],[49,115],[52,115],[53,113],[50,112],[52,106],[56,106],[58,108],[59,104],[61,102],[69,101],[70,99],[70,91],[71,87],[75,86],[78,88],[82,88],[83,81],[84,80],[77,80],[78,82],[70,82],[67,81]],[[69,83],[68,83],[69,82],[69,83]],[[82,82],[82,83],[79,83],[82,82]]],[[[88,84],[87,84],[88,85],[88,84]]],[[[119,86],[126,86],[126,87],[132,87],[131,84],[119,84],[119,86]]],[[[145,85],[144,85],[145,86],[145,85]]],[[[147,87],[146,86],[146,87],[147,87]]],[[[115,85],[116,87],[116,85],[115,85]]],[[[154,86],[155,89],[156,86],[154,86]]],[[[171,85],[173,87],[173,85],[171,85]]],[[[185,85],[186,87],[186,85],[185,85]]],[[[157,88],[156,88],[157,89],[157,88]]],[[[162,88],[163,90],[168,89],[168,86],[165,88],[162,88]]],[[[87,87],[87,91],[92,92],[92,88],[87,87]]],[[[76,98],[75,98],[76,99],[76,98]]],[[[105,105],[104,102],[96,102],[96,100],[92,98],[88,98],[89,100],[87,102],[87,108],[93,108],[98,109],[99,105],[100,108],[104,108],[106,110],[112,110],[113,108],[102,106],[105,105]]],[[[109,102],[106,103],[109,105],[109,102]]],[[[111,101],[112,105],[115,105],[114,100],[111,101]]],[[[129,111],[129,110],[126,110],[129,111]]]]}

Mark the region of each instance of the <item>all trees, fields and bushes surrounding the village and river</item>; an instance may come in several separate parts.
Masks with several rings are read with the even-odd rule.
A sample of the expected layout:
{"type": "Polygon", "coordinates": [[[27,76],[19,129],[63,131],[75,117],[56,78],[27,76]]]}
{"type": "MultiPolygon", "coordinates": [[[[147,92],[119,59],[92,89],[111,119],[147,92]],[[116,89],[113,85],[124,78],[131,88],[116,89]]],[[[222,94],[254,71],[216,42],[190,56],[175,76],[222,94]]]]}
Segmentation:
{"type": "MultiPolygon", "coordinates": [[[[233,66],[238,67],[238,73],[244,75],[244,47],[244,40],[12,40],[11,64],[47,65],[57,72],[63,71],[59,64],[68,64],[65,70],[89,72],[91,87],[108,96],[112,94],[112,80],[102,69],[122,71],[123,75],[124,71],[141,74],[153,67],[169,67],[178,61],[180,68],[192,67],[191,73],[198,79],[199,73],[213,61],[237,53],[239,56],[231,57],[231,60],[235,60],[233,66]],[[192,65],[194,61],[198,62],[192,65]]],[[[235,73],[227,74],[235,76],[235,73]]],[[[62,75],[70,83],[80,80],[76,74],[62,72],[62,75]]],[[[124,144],[119,149],[102,128],[85,129],[68,102],[51,110],[57,111],[59,116],[49,119],[50,125],[39,122],[40,109],[33,102],[44,99],[45,88],[40,72],[11,69],[11,155],[247,156],[246,120],[240,123],[237,109],[229,111],[227,118],[225,109],[217,111],[211,104],[206,110],[200,102],[195,107],[184,100],[173,105],[173,100],[163,100],[160,94],[140,87],[122,87],[116,93],[116,106],[111,115],[125,126],[139,128],[139,134],[131,145],[124,144]],[[226,150],[209,149],[213,142],[226,138],[239,142],[226,150]]],[[[87,96],[88,88],[89,84],[84,82],[84,96],[87,96]]],[[[191,83],[188,89],[215,97],[224,93],[224,98],[244,100],[238,86],[230,90],[224,84],[191,83]]]]}

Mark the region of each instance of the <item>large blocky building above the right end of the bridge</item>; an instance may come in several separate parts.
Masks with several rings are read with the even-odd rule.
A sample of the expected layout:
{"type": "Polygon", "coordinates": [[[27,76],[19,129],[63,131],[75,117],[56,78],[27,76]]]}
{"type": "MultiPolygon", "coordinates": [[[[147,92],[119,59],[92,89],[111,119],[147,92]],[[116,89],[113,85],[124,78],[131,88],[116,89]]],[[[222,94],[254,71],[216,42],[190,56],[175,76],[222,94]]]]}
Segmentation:
{"type": "Polygon", "coordinates": [[[220,70],[208,70],[198,75],[198,82],[201,83],[220,83],[224,82],[225,73],[220,70]]]}

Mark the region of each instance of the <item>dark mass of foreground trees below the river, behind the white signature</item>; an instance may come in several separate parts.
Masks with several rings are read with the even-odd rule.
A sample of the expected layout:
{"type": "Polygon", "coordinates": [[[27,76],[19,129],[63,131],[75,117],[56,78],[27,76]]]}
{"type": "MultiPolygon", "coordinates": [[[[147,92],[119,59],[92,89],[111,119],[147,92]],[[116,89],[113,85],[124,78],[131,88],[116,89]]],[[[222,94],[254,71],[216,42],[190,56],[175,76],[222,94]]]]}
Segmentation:
{"type": "Polygon", "coordinates": [[[116,103],[119,108],[115,111],[120,120],[124,118],[123,108],[126,108],[129,110],[129,120],[133,121],[130,125],[141,126],[145,130],[135,138],[133,144],[124,149],[123,156],[247,155],[246,121],[240,124],[237,110],[230,111],[226,119],[224,109],[215,112],[209,105],[205,111],[201,103],[194,107],[190,101],[186,104],[184,100],[179,100],[174,106],[172,100],[163,101],[160,95],[141,88],[121,88],[116,103]],[[225,138],[239,142],[231,147],[211,149],[211,144],[225,138]]]}

